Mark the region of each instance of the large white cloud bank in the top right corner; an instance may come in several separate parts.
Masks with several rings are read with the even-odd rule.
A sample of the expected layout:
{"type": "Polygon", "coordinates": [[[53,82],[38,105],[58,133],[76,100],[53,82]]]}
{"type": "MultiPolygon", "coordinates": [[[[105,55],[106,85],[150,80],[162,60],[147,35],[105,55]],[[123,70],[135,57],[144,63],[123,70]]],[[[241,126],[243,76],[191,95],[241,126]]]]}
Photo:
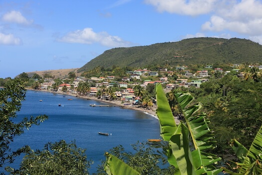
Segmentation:
{"type": "Polygon", "coordinates": [[[262,35],[262,2],[242,0],[219,8],[217,14],[202,25],[203,30],[230,30],[252,36],[262,35]]]}

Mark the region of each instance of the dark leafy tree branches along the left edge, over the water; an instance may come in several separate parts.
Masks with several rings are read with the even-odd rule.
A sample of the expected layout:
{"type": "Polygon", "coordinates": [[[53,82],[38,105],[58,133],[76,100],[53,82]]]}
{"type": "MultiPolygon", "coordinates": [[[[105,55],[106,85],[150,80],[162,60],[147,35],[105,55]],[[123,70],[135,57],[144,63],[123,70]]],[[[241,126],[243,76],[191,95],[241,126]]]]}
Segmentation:
{"type": "Polygon", "coordinates": [[[19,122],[13,122],[16,112],[20,110],[21,101],[25,97],[25,82],[21,79],[8,80],[3,89],[0,89],[0,167],[5,162],[13,162],[15,156],[26,152],[27,146],[18,150],[9,152],[9,144],[16,135],[23,133],[24,129],[28,129],[33,124],[39,124],[47,119],[46,115],[36,117],[24,117],[19,122]]]}

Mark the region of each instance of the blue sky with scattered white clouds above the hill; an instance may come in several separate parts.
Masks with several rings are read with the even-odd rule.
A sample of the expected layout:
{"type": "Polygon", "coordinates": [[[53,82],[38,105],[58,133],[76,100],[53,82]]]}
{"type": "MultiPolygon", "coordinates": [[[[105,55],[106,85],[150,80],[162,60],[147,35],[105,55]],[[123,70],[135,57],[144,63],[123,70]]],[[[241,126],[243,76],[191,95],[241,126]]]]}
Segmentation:
{"type": "Polygon", "coordinates": [[[0,0],[0,78],[192,37],[262,44],[261,9],[262,0],[0,0]]]}

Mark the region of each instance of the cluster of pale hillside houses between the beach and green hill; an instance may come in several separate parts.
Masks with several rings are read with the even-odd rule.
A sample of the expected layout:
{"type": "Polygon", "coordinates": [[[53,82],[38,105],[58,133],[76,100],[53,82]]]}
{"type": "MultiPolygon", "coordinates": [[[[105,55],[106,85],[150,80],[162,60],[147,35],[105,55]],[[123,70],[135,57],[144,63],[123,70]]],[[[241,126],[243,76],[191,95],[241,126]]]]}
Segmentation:
{"type": "MultiPolygon", "coordinates": [[[[259,69],[262,69],[262,65],[258,67],[259,69]]],[[[87,81],[95,84],[94,87],[90,87],[89,95],[96,95],[97,91],[100,89],[101,86],[105,86],[105,87],[118,86],[123,88],[121,88],[122,89],[121,91],[115,92],[115,94],[118,98],[125,100],[134,97],[134,90],[132,87],[136,85],[146,87],[148,84],[162,83],[166,85],[166,91],[170,91],[174,88],[181,87],[181,86],[200,87],[201,83],[209,80],[208,79],[208,77],[210,76],[209,70],[212,70],[214,72],[221,72],[224,74],[227,74],[231,71],[238,72],[240,70],[240,69],[232,69],[231,71],[224,71],[222,68],[219,67],[213,68],[212,65],[207,65],[205,68],[206,69],[197,71],[195,73],[192,73],[187,66],[178,66],[175,68],[176,69],[175,71],[168,70],[167,68],[160,68],[159,71],[151,71],[146,68],[138,69],[134,71],[127,71],[126,74],[128,76],[122,77],[121,81],[116,81],[115,76],[113,75],[109,75],[107,77],[90,77],[90,78],[76,77],[74,81],[70,84],[68,83],[60,84],[58,87],[58,91],[62,91],[62,88],[65,86],[67,88],[67,91],[71,93],[77,93],[75,89],[77,88],[79,82],[87,81]],[[169,79],[171,79],[171,77],[174,74],[178,75],[178,78],[175,81],[173,80],[173,82],[171,83],[169,79]],[[155,79],[158,80],[153,81],[153,80],[145,79],[148,76],[156,76],[157,78],[155,79]]],[[[52,86],[53,83],[54,83],[53,78],[45,78],[44,82],[41,83],[40,88],[47,90],[52,86]]]]}

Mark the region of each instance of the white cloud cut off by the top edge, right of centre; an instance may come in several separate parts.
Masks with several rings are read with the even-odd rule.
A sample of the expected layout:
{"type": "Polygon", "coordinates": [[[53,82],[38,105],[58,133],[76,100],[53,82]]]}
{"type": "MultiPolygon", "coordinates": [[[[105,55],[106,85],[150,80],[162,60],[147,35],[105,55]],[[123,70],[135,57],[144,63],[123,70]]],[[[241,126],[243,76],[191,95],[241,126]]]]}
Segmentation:
{"type": "Polygon", "coordinates": [[[206,14],[212,11],[218,0],[144,0],[154,5],[160,12],[170,12],[185,15],[206,14]]]}

